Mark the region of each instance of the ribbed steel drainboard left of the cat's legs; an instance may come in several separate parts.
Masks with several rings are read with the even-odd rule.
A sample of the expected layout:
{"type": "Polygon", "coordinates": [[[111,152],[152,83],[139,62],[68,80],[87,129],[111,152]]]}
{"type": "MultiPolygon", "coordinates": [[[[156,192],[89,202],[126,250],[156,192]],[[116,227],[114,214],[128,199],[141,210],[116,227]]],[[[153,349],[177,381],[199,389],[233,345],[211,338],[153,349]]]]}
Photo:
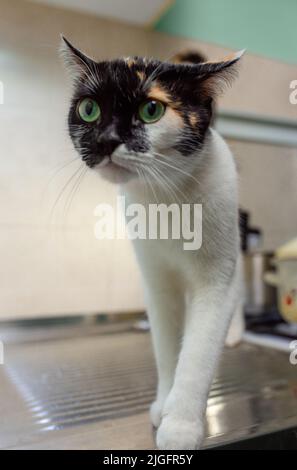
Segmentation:
{"type": "Polygon", "coordinates": [[[43,431],[128,416],[154,398],[142,340],[130,333],[14,346],[6,370],[43,431]]]}

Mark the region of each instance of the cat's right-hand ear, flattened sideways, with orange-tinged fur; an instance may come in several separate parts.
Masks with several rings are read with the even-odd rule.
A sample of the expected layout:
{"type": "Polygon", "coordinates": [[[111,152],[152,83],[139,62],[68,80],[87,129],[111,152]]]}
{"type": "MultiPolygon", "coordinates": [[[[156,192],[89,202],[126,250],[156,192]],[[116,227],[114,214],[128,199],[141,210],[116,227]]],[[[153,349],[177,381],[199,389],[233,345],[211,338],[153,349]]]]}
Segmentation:
{"type": "Polygon", "coordinates": [[[196,66],[199,82],[208,96],[217,96],[231,84],[237,75],[238,62],[244,52],[245,50],[241,50],[219,61],[202,62],[196,66]]]}

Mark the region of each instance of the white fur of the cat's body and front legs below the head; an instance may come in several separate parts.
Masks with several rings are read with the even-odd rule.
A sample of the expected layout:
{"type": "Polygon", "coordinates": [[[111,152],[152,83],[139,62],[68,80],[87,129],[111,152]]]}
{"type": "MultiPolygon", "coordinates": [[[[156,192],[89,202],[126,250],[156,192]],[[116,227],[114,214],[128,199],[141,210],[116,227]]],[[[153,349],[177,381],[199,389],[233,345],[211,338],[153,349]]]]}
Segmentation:
{"type": "MultiPolygon", "coordinates": [[[[187,165],[192,178],[181,178],[178,184],[187,190],[192,203],[203,204],[201,249],[184,251],[182,240],[134,242],[159,377],[151,419],[158,427],[158,448],[171,450],[199,448],[203,442],[209,389],[232,315],[241,303],[237,175],[232,155],[211,130],[203,151],[187,165]]],[[[156,191],[165,202],[160,188],[154,194],[144,191],[137,178],[122,186],[128,203],[145,206],[156,202],[156,191]]],[[[240,339],[238,318],[229,338],[232,344],[240,339]]]]}

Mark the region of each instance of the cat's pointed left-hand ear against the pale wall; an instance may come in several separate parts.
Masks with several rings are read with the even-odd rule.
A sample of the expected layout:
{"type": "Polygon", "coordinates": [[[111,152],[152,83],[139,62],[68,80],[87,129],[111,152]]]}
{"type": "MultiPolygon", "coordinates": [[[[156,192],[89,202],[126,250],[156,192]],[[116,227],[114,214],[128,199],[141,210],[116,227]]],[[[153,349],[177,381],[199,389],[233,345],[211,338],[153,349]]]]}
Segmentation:
{"type": "Polygon", "coordinates": [[[96,62],[61,35],[60,54],[74,79],[89,75],[96,62]]]}

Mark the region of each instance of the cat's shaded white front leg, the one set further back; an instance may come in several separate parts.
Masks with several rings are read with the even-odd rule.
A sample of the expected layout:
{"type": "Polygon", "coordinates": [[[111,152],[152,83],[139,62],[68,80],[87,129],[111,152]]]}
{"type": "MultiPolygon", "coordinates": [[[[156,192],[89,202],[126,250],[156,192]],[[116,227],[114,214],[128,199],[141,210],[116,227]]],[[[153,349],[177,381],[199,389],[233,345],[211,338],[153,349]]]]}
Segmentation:
{"type": "Polygon", "coordinates": [[[146,304],[158,372],[155,401],[150,408],[154,427],[161,422],[164,403],[172,388],[183,330],[184,301],[168,272],[146,277],[146,304]]]}

